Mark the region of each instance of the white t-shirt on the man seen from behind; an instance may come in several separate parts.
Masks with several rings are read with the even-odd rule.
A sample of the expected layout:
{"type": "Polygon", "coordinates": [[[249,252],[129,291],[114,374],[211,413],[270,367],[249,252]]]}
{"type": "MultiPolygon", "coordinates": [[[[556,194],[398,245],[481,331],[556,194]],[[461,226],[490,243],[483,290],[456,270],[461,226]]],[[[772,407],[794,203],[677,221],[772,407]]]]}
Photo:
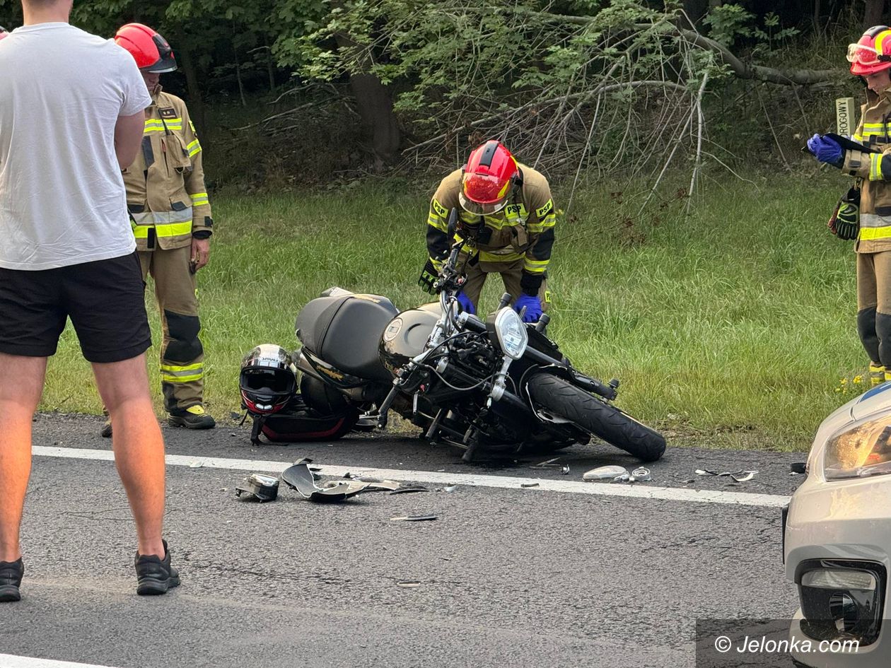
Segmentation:
{"type": "Polygon", "coordinates": [[[134,251],[114,128],[150,104],[133,56],[111,40],[68,23],[0,40],[0,267],[134,251]]]}

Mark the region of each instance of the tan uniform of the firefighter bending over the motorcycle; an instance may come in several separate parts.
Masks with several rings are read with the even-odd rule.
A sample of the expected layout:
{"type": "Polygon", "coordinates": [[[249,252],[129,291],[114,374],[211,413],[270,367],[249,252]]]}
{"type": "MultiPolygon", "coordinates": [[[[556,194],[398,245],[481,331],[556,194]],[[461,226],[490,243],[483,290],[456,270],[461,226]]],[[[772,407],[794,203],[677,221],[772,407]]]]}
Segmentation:
{"type": "Polygon", "coordinates": [[[532,167],[519,163],[518,167],[519,179],[511,200],[494,215],[478,216],[461,207],[461,169],[446,176],[430,200],[427,249],[437,272],[451,246],[447,233],[449,212],[457,208],[461,224],[478,230],[465,242],[459,257],[459,266],[467,276],[463,293],[474,307],[489,273],[501,274],[504,289],[513,301],[523,291],[537,291],[543,311],[551,303],[546,281],[556,222],[551,187],[544,175],[532,167]]]}

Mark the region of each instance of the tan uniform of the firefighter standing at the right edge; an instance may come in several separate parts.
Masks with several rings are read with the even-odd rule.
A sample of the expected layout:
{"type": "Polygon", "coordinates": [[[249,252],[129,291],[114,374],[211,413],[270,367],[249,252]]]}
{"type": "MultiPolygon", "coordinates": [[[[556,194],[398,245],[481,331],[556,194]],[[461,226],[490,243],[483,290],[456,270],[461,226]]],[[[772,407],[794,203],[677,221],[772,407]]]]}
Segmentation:
{"type": "Polygon", "coordinates": [[[862,180],[857,235],[857,330],[870,375],[891,380],[891,88],[867,90],[854,141],[879,153],[846,151],[842,171],[862,180]]]}

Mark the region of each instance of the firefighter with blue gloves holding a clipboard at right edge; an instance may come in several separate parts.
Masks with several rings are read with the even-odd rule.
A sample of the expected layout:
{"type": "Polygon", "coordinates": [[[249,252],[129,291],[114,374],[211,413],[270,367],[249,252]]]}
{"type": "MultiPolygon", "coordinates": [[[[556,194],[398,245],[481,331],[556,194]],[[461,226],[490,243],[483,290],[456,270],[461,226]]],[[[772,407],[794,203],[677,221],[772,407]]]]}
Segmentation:
{"type": "Polygon", "coordinates": [[[848,46],[847,60],[851,73],[866,84],[852,138],[879,152],[845,150],[820,134],[807,146],[816,159],[859,183],[857,331],[870,356],[871,384],[878,385],[891,380],[891,29],[868,29],[848,46]]]}

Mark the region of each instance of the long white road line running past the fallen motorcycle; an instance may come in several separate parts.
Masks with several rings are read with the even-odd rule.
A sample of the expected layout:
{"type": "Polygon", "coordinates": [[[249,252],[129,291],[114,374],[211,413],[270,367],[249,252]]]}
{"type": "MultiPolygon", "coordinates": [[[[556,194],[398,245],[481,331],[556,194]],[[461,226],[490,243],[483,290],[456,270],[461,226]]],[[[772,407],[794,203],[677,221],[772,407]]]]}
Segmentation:
{"type": "MultiPolygon", "coordinates": [[[[64,457],[81,460],[114,460],[110,450],[86,450],[83,448],[59,448],[35,445],[33,453],[41,457],[64,457]]],[[[192,457],[181,454],[168,454],[169,466],[191,468],[229,468],[238,471],[262,471],[281,473],[290,463],[285,461],[232,460],[223,457],[192,457]]],[[[472,473],[435,473],[433,471],[413,471],[396,468],[369,468],[360,466],[320,466],[323,476],[343,477],[370,476],[389,480],[430,483],[432,485],[470,485],[477,487],[497,487],[520,489],[520,485],[535,487],[523,488],[526,492],[561,492],[570,494],[596,494],[600,496],[625,496],[634,499],[657,499],[661,501],[687,501],[695,503],[726,503],[739,506],[761,506],[781,508],[789,503],[789,496],[745,492],[723,492],[721,490],[697,490],[678,487],[656,487],[646,484],[586,483],[575,480],[545,480],[542,478],[478,476],[472,473]]],[[[0,667],[2,668],[2,667],[0,667]]]]}

